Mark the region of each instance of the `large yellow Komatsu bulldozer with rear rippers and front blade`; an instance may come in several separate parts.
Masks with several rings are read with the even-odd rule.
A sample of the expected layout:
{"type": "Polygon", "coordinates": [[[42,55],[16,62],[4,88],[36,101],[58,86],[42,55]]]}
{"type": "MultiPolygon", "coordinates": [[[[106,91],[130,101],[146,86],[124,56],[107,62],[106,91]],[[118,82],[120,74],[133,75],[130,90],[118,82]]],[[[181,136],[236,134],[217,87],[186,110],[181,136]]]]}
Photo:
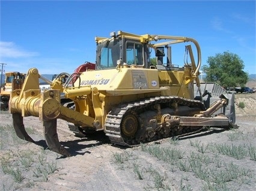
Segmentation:
{"type": "Polygon", "coordinates": [[[207,126],[236,126],[234,94],[220,86],[201,93],[201,50],[193,38],[118,31],[95,40],[95,69],[61,73],[50,90],[41,92],[38,69],[29,69],[22,88],[11,93],[9,102],[19,138],[34,142],[23,125],[26,116],[43,121],[48,147],[63,156],[70,153],[59,143],[57,119],[66,120],[82,134],[87,129],[104,131],[111,143],[127,147],[207,126]],[[177,50],[184,51],[178,57],[173,50],[181,44],[183,48],[177,50]],[[182,63],[172,63],[174,56],[182,63]],[[62,78],[67,79],[65,83],[62,78]],[[62,105],[61,96],[71,99],[75,107],[62,105]]]}

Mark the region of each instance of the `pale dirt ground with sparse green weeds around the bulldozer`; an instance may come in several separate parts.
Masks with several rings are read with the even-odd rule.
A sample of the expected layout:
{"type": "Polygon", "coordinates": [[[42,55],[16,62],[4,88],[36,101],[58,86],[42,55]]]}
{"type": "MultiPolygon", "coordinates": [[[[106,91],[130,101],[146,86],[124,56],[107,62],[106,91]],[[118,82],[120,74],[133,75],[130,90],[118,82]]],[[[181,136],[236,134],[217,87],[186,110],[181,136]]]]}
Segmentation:
{"type": "Polygon", "coordinates": [[[2,111],[0,190],[255,190],[256,93],[236,95],[236,116],[238,129],[133,148],[111,144],[102,132],[75,137],[58,120],[59,141],[73,154],[62,157],[47,149],[38,118],[24,119],[33,144],[17,138],[2,111]]]}

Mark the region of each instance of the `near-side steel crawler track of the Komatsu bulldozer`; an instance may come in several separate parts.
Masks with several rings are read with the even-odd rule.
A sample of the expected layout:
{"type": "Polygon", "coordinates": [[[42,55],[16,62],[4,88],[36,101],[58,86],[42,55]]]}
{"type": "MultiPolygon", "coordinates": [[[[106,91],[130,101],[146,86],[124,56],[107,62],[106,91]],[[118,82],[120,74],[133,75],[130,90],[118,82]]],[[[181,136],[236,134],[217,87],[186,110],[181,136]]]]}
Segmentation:
{"type": "MultiPolygon", "coordinates": [[[[149,141],[159,140],[161,138],[186,134],[188,132],[197,131],[198,129],[202,128],[191,128],[188,126],[172,126],[170,131],[166,131],[166,129],[163,129],[159,126],[159,128],[151,131],[153,132],[152,136],[148,136],[148,128],[150,128],[150,126],[147,126],[148,121],[150,121],[151,119],[156,119],[157,115],[156,109],[154,109],[155,105],[160,105],[160,111],[162,114],[165,114],[164,109],[167,108],[167,110],[169,109],[169,111],[172,111],[171,113],[175,116],[178,116],[177,111],[181,107],[187,107],[188,109],[196,108],[198,111],[206,110],[204,104],[200,101],[180,98],[176,96],[160,96],[150,99],[144,99],[140,102],[123,104],[120,105],[120,107],[113,108],[112,111],[109,112],[109,114],[106,116],[105,132],[106,135],[109,137],[109,140],[111,140],[111,142],[114,144],[130,147],[132,145],[147,143],[149,141]],[[175,105],[175,108],[173,108],[173,105],[175,105]],[[156,115],[150,117],[150,119],[146,119],[147,115],[143,116],[143,114],[150,111],[151,113],[156,113],[156,115]],[[137,119],[137,123],[136,120],[133,123],[133,119],[135,118],[137,119]],[[124,126],[123,123],[126,123],[125,125],[130,126],[130,128],[122,129],[122,127],[124,126]]],[[[182,114],[180,114],[180,116],[181,115],[182,114]]],[[[189,115],[191,115],[191,113],[184,114],[184,116],[189,115]]]]}

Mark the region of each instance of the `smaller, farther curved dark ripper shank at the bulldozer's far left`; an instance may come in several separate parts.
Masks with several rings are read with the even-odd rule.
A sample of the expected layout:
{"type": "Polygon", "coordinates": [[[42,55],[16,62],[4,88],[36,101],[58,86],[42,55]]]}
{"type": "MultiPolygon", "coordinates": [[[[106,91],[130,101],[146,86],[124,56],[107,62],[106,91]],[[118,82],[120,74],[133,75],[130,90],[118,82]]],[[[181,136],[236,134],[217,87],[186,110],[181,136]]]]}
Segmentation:
{"type": "Polygon", "coordinates": [[[23,124],[23,117],[19,113],[13,113],[13,127],[17,134],[17,137],[21,138],[22,140],[26,140],[32,143],[35,143],[31,137],[27,134],[25,130],[25,126],[23,124]]]}

